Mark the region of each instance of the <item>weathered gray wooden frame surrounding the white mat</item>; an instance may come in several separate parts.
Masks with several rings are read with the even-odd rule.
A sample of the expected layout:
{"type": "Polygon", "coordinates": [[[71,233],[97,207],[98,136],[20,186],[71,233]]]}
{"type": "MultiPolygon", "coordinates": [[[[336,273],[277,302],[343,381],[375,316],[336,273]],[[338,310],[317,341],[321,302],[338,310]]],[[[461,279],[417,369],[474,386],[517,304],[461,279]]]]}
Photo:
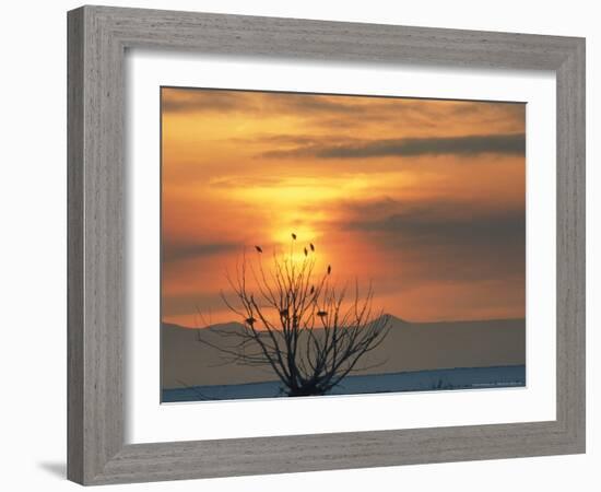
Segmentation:
{"type": "Polygon", "coordinates": [[[105,7],[69,12],[68,34],[69,479],[101,484],[585,452],[582,38],[105,7]],[[555,71],[556,420],[125,445],[123,55],[130,47],[555,71]]]}

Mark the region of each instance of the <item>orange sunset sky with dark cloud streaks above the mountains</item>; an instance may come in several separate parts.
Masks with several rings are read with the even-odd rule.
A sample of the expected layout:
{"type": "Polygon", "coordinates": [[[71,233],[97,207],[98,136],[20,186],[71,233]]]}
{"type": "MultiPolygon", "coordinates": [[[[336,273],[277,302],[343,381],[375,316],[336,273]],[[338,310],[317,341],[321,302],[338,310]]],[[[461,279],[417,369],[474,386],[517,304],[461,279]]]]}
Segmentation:
{"type": "Polygon", "coordinates": [[[396,316],[525,316],[523,104],[161,94],[163,320],[236,320],[225,272],[292,232],[396,316]]]}

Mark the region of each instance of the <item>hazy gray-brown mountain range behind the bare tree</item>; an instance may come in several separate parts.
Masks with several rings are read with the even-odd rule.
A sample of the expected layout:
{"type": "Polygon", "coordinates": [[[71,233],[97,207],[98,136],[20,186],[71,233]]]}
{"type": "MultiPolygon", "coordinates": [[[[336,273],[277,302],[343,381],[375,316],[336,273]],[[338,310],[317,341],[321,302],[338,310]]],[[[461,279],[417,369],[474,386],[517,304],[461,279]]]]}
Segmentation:
{"type": "MultiPolygon", "coordinates": [[[[384,374],[451,367],[486,367],[526,363],[526,320],[410,323],[393,316],[384,343],[360,361],[361,366],[384,362],[355,374],[384,374]]],[[[220,331],[244,329],[239,323],[214,325],[220,331]]],[[[269,367],[224,364],[222,355],[199,341],[223,344],[225,335],[210,328],[162,326],[162,386],[226,385],[276,379],[269,367]]]]}

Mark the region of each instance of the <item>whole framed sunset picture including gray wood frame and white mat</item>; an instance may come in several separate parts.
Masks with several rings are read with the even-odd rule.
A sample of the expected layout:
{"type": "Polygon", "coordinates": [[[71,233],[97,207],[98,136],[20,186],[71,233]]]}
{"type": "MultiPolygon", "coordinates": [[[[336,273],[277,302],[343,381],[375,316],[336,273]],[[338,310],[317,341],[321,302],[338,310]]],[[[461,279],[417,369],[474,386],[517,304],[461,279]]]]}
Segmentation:
{"type": "Polygon", "coordinates": [[[68,476],[585,452],[585,40],[69,12],[68,476]]]}

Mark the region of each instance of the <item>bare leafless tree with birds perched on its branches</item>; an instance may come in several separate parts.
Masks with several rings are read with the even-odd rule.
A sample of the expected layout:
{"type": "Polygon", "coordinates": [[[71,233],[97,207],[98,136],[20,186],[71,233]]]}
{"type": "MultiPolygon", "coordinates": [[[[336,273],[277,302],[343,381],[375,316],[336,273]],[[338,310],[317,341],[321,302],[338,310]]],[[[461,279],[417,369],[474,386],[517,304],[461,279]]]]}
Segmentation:
{"type": "Polygon", "coordinates": [[[316,272],[313,243],[299,253],[295,247],[292,234],[290,254],[274,253],[270,268],[260,246],[255,247],[255,261],[245,255],[235,278],[227,276],[233,298],[222,292],[243,328],[213,326],[209,329],[220,342],[199,340],[219,350],[227,363],[271,367],[288,396],[323,395],[384,341],[389,317],[373,313],[372,285],[361,295],[355,281],[347,295],[346,288],[332,281],[330,265],[316,272]]]}

